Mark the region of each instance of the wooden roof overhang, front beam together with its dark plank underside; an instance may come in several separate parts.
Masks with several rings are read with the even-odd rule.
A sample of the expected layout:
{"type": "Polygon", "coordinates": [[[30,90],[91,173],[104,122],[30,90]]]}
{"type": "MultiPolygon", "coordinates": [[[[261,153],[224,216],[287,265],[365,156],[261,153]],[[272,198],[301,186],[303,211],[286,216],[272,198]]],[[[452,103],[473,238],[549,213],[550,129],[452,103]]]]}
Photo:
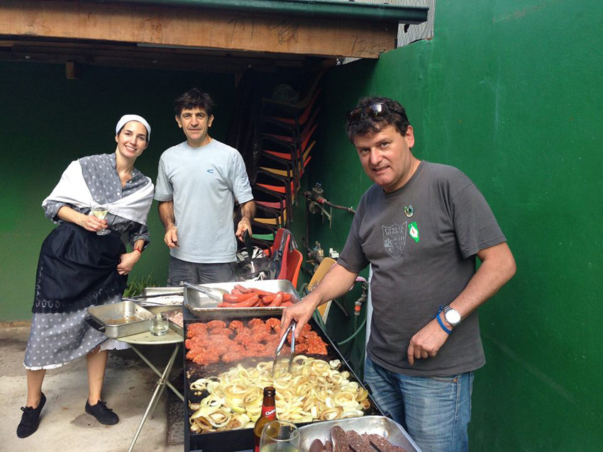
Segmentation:
{"type": "Polygon", "coordinates": [[[0,60],[243,72],[377,58],[397,21],[123,2],[3,0],[0,60]]]}

